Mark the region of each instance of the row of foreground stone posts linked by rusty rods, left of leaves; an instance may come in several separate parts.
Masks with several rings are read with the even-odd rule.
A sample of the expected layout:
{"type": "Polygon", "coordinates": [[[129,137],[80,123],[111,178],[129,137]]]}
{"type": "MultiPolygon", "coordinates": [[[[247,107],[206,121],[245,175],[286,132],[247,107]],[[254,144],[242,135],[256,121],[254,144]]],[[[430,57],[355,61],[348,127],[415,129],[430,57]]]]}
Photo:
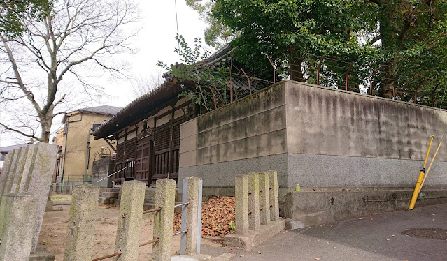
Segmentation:
{"type": "MultiPolygon", "coordinates": [[[[198,182],[195,182],[198,179],[196,177],[187,179],[192,179],[188,186],[194,186],[198,182]]],[[[119,261],[137,260],[139,246],[152,244],[152,260],[171,260],[176,181],[173,179],[157,180],[155,209],[149,211],[143,211],[145,192],[146,184],[141,181],[126,181],[122,186],[115,253],[107,257],[115,256],[115,260],[119,261]],[[148,212],[155,212],[153,240],[140,245],[141,221],[143,214],[148,212]]],[[[91,184],[83,184],[73,189],[64,261],[92,260],[98,195],[99,186],[91,184]]],[[[188,204],[195,206],[199,197],[188,197],[188,200],[188,204]]],[[[192,231],[195,234],[197,226],[195,228],[194,225],[188,226],[186,231],[192,231]]],[[[186,246],[195,246],[197,237],[186,237],[185,244],[186,246]]],[[[187,254],[193,253],[195,251],[189,251],[187,254]]],[[[101,258],[95,260],[101,260],[101,258]]]]}

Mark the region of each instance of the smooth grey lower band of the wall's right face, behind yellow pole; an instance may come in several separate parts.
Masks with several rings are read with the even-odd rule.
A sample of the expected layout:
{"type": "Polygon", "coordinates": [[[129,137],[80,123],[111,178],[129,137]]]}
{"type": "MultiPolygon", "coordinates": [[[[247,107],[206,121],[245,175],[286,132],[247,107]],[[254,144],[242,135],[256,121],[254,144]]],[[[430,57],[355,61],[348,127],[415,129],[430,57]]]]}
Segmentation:
{"type": "MultiPolygon", "coordinates": [[[[423,161],[288,154],[288,186],[414,186],[423,161]]],[[[447,186],[447,162],[435,161],[425,185],[447,186]]]]}

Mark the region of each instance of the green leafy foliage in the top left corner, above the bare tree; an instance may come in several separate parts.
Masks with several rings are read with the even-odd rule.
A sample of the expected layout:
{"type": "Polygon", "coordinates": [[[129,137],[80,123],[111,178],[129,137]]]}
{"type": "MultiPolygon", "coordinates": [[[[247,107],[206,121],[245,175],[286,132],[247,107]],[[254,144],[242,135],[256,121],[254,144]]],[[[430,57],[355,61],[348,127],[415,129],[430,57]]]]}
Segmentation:
{"type": "Polygon", "coordinates": [[[22,36],[27,20],[51,15],[52,0],[0,0],[0,33],[8,38],[22,36]]]}

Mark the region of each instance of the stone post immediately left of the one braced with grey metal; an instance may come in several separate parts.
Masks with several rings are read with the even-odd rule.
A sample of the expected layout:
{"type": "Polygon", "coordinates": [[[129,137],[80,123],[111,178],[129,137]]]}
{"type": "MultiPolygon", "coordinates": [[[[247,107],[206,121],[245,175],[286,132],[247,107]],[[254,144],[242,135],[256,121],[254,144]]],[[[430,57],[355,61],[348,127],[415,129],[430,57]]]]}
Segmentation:
{"type": "Polygon", "coordinates": [[[157,180],[155,190],[155,207],[162,210],[154,215],[154,239],[152,244],[153,261],[171,260],[171,243],[173,234],[173,210],[176,197],[176,181],[173,179],[157,180]]]}

